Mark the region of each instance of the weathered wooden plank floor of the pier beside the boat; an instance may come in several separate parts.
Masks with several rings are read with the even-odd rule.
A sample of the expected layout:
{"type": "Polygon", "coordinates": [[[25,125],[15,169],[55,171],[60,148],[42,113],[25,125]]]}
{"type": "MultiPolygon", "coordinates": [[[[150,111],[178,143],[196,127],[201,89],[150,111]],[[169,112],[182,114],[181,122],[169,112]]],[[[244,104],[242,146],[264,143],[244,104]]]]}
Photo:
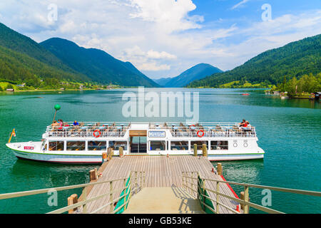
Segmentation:
{"type": "MultiPolygon", "coordinates": [[[[200,177],[211,180],[223,181],[222,176],[216,174],[216,170],[210,163],[207,157],[203,156],[192,156],[192,155],[128,155],[125,157],[113,157],[108,162],[104,162],[101,168],[98,170],[98,180],[93,180],[93,182],[106,182],[101,185],[94,185],[86,187],[86,199],[91,199],[103,195],[105,192],[112,192],[112,194],[106,195],[99,200],[89,202],[86,204],[86,213],[110,213],[116,204],[112,206],[108,205],[104,207],[103,205],[108,204],[108,202],[113,201],[121,194],[121,188],[126,185],[125,179],[128,177],[129,173],[132,173],[134,187],[136,191],[133,191],[133,195],[143,188],[172,188],[175,192],[176,190],[185,190],[185,194],[194,197],[198,197],[197,176],[194,179],[183,180],[183,172],[190,173],[190,177],[193,177],[193,173],[197,173],[200,177]],[[137,172],[144,172],[144,176],[138,176],[135,179],[135,174],[137,172]],[[193,173],[192,173],[193,172],[193,173]],[[115,182],[107,182],[108,180],[116,180],[115,182]],[[145,185],[142,186],[145,182],[145,185]],[[185,188],[184,188],[185,187],[185,188]],[[193,189],[196,189],[196,191],[193,189]],[[112,208],[111,208],[112,207],[112,208]]],[[[217,190],[217,182],[205,182],[205,187],[209,190],[217,190]]],[[[235,198],[235,193],[228,186],[228,184],[220,183],[219,191],[224,195],[235,198]]],[[[132,196],[133,196],[132,195],[132,196]]],[[[221,204],[224,204],[230,209],[239,209],[239,203],[235,202],[232,198],[227,198],[223,196],[217,196],[215,193],[208,191],[208,195],[212,199],[219,199],[221,204]]],[[[157,195],[155,195],[157,197],[157,195]]],[[[81,195],[79,201],[84,200],[84,196],[81,195]]],[[[164,201],[166,199],[163,199],[164,201]]],[[[170,199],[169,199],[170,200],[170,199]]],[[[212,200],[213,201],[213,200],[212,200]]],[[[183,198],[182,198],[183,202],[183,198]]],[[[230,209],[218,206],[220,213],[229,214],[233,213],[230,209]]],[[[213,202],[215,205],[215,202],[213,202]]],[[[131,206],[131,202],[129,202],[131,206]]],[[[83,212],[82,208],[78,209],[78,213],[83,212]]],[[[156,213],[157,211],[155,211],[156,213]]],[[[182,213],[183,210],[178,210],[178,213],[182,213]]],[[[242,213],[243,211],[240,210],[242,213]]],[[[153,213],[153,212],[151,212],[153,213]]],[[[173,211],[171,211],[173,213],[173,211]]]]}

